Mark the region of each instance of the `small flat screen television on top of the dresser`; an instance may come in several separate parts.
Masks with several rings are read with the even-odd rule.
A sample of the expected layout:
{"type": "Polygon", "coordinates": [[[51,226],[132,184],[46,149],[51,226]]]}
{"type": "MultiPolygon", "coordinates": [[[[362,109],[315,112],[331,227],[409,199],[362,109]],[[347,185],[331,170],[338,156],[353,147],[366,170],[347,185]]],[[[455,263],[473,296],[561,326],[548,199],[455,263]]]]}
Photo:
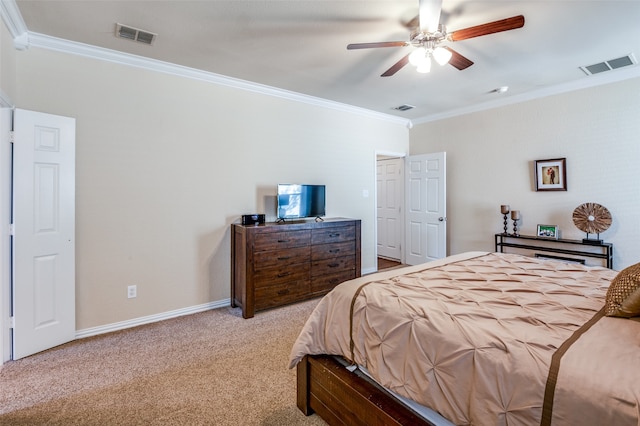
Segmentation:
{"type": "Polygon", "coordinates": [[[324,185],[278,184],[278,219],[319,218],[325,214],[324,185]]]}

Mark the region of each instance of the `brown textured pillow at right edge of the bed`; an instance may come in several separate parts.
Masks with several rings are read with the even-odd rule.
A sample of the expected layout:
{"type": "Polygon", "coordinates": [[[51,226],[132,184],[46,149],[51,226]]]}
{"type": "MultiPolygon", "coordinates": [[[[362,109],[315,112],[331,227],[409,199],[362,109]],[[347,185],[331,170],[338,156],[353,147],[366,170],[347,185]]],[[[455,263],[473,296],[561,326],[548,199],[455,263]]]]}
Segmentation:
{"type": "Polygon", "coordinates": [[[611,281],[605,314],[624,318],[640,316],[640,263],[623,269],[611,281]]]}

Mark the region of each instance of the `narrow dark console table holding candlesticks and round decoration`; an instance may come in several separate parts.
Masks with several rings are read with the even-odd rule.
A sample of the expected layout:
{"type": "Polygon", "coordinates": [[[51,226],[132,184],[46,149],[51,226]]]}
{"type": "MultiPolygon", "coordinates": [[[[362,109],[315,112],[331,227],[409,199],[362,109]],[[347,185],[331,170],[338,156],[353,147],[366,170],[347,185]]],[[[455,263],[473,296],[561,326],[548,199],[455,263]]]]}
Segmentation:
{"type": "MultiPolygon", "coordinates": [[[[503,253],[505,247],[597,258],[604,260],[607,268],[613,268],[613,244],[611,243],[589,244],[582,240],[543,238],[532,235],[495,234],[495,251],[503,253]]],[[[548,257],[554,258],[555,256],[548,257]]],[[[570,261],[581,260],[575,258],[557,258],[570,261]]]]}

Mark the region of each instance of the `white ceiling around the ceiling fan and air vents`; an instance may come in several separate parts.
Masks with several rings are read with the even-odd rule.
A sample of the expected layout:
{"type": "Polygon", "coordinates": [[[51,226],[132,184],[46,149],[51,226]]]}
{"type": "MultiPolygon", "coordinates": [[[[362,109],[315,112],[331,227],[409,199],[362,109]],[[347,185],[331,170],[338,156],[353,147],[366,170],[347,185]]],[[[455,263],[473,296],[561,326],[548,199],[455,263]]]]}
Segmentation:
{"type": "MultiPolygon", "coordinates": [[[[15,0],[2,0],[13,2],[15,0]]],[[[475,62],[459,71],[407,65],[418,0],[17,0],[28,34],[127,52],[412,121],[640,76],[640,66],[587,76],[579,67],[640,57],[640,0],[443,0],[449,31],[524,15],[521,29],[449,43],[475,62]],[[116,23],[157,33],[152,46],[115,37],[116,23]],[[506,93],[494,89],[508,86],[506,93]],[[401,112],[394,107],[415,106],[401,112]]]]}

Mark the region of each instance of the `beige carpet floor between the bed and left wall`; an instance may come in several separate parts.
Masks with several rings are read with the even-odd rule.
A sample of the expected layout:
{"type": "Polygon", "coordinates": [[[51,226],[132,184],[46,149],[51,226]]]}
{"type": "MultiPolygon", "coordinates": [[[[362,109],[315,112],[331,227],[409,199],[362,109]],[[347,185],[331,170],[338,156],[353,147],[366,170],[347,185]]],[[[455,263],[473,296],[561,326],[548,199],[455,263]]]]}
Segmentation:
{"type": "Polygon", "coordinates": [[[221,308],[81,339],[0,369],[0,425],[324,425],[296,407],[291,346],[318,299],[221,308]]]}

